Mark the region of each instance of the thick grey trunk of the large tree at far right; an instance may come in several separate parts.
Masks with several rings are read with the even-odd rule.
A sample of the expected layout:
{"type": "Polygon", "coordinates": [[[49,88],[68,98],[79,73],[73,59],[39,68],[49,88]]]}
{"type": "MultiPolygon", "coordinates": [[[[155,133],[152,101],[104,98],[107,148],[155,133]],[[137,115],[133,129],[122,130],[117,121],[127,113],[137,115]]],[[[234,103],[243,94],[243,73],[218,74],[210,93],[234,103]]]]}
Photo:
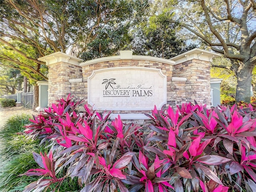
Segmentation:
{"type": "Polygon", "coordinates": [[[247,63],[241,64],[237,71],[236,102],[251,102],[253,66],[247,63]]]}

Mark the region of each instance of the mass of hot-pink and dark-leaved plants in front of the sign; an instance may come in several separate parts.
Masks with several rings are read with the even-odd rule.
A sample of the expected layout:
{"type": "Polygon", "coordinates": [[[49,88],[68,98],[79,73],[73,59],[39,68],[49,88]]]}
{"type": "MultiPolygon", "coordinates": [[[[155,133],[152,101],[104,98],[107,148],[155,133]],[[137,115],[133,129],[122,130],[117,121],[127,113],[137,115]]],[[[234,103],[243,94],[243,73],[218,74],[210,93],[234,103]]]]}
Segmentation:
{"type": "Polygon", "coordinates": [[[42,176],[24,192],[57,190],[68,177],[80,192],[256,191],[256,113],[252,106],[207,109],[191,103],[154,108],[148,124],[109,121],[71,97],[34,116],[24,131],[50,140],[46,154],[33,153],[42,176]],[[148,134],[145,134],[146,130],[148,134]],[[65,176],[58,177],[64,172],[65,176]]]}

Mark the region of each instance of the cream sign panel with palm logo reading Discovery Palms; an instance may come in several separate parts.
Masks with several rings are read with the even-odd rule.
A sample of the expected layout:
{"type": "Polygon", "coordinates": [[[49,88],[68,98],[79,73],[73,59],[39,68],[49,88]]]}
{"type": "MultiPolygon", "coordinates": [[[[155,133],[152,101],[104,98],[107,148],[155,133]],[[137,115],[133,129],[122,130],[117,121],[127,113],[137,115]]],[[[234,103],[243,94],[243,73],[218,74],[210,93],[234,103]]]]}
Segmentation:
{"type": "Polygon", "coordinates": [[[166,76],[161,70],[116,67],[88,77],[88,104],[100,110],[152,110],[166,104],[166,76]]]}

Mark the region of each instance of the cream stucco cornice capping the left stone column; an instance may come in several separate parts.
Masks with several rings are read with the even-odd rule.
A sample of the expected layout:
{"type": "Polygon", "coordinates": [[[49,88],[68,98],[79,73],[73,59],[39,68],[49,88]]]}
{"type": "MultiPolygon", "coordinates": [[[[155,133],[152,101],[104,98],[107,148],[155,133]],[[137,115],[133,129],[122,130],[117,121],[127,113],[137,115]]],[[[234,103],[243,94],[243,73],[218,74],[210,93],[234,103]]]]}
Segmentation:
{"type": "Polygon", "coordinates": [[[62,53],[60,51],[38,58],[39,61],[46,62],[46,65],[54,64],[57,62],[65,62],[68,64],[79,66],[78,62],[82,59],[62,53]]]}

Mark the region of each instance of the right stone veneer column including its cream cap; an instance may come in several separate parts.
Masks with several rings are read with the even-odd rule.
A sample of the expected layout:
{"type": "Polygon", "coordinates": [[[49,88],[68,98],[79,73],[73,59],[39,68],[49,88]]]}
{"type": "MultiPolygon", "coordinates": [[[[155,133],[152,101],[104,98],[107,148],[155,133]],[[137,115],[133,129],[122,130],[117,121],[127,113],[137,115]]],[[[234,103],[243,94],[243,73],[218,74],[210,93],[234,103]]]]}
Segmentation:
{"type": "Polygon", "coordinates": [[[194,100],[201,104],[211,105],[210,101],[210,63],[220,54],[193,49],[170,60],[176,62],[173,68],[172,89],[174,98],[171,105],[194,100]]]}

